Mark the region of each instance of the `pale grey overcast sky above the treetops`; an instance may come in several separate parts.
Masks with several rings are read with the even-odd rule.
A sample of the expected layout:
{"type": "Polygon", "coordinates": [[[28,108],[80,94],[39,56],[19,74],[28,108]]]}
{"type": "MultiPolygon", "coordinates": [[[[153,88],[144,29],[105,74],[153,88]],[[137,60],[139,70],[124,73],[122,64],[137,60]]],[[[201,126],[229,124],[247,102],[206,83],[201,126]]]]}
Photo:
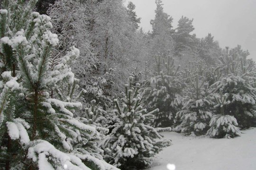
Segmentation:
{"type": "MultiPolygon", "coordinates": [[[[126,0],[136,5],[140,26],[151,30],[149,21],[155,17],[155,0],[126,0]]],[[[205,37],[211,33],[224,48],[242,45],[256,61],[256,0],[163,0],[164,11],[177,26],[182,16],[194,18],[193,33],[205,37]]]]}

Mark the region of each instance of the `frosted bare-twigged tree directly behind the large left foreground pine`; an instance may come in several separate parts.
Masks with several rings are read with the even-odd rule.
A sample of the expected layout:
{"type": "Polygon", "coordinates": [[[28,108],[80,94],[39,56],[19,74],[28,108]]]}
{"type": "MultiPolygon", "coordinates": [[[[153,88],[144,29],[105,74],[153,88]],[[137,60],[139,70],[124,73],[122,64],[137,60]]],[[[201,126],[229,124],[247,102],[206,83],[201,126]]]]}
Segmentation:
{"type": "MultiPolygon", "coordinates": [[[[92,8],[93,0],[90,3],[92,8]]],[[[87,71],[96,68],[98,62],[91,45],[91,10],[86,2],[80,0],[56,0],[47,11],[52,18],[53,32],[58,34],[60,40],[53,61],[60,59],[70,46],[75,45],[80,50],[80,56],[75,59],[79,62],[70,66],[79,76],[85,76],[87,71]]]]}

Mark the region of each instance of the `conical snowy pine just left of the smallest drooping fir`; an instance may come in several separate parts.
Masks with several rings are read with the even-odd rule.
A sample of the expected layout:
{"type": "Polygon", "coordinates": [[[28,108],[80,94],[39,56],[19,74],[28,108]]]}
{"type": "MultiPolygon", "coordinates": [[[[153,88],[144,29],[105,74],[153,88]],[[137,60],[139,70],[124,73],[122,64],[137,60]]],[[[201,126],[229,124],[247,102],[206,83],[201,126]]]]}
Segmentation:
{"type": "Polygon", "coordinates": [[[183,108],[176,113],[176,121],[180,123],[174,131],[187,135],[202,135],[208,130],[208,122],[212,117],[209,85],[203,76],[196,74],[183,91],[183,108]]]}

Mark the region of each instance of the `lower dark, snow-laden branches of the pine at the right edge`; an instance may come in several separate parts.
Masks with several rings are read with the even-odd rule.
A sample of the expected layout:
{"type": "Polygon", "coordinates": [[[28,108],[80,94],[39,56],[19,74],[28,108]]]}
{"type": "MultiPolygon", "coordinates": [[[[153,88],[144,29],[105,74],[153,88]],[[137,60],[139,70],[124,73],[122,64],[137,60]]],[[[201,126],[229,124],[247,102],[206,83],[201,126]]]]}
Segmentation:
{"type": "MultiPolygon", "coordinates": [[[[246,74],[245,74],[246,75],[246,74]]],[[[255,118],[255,88],[246,76],[226,76],[214,83],[211,88],[225,93],[230,103],[226,106],[225,115],[233,115],[240,127],[253,126],[255,118]]],[[[223,104],[222,104],[223,105],[223,104]]]]}

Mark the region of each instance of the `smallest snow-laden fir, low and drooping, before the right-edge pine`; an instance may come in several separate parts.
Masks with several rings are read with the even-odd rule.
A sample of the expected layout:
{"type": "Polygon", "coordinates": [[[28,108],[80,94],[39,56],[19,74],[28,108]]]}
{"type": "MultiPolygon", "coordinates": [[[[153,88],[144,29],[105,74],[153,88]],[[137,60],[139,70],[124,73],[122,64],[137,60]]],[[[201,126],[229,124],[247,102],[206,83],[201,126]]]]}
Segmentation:
{"type": "Polygon", "coordinates": [[[227,105],[230,103],[230,101],[227,101],[227,97],[227,94],[223,94],[223,89],[220,89],[219,94],[214,95],[217,103],[214,108],[217,109],[219,114],[211,118],[210,129],[207,131],[206,135],[217,138],[230,138],[240,135],[240,130],[237,127],[237,119],[233,116],[225,115],[227,105]]]}

